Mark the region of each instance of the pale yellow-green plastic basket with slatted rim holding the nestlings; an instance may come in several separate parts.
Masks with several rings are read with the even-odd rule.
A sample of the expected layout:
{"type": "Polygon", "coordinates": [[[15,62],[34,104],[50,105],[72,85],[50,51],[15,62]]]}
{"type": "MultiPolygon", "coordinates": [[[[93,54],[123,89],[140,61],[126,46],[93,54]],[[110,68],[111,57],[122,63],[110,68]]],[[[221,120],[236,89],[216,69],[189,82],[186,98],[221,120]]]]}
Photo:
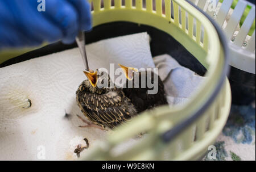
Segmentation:
{"type": "MultiPolygon", "coordinates": [[[[225,76],[228,73],[228,52],[220,29],[200,9],[184,0],[165,0],[164,9],[162,0],[136,0],[135,3],[115,0],[114,4],[111,0],[90,2],[93,5],[93,27],[132,22],[157,28],[183,45],[207,69],[207,73],[188,102],[143,112],[129,124],[119,127],[104,142],[95,142],[86,157],[81,159],[199,160],[222,131],[230,111],[230,86],[225,76]],[[196,26],[193,26],[194,21],[196,26]],[[118,145],[141,132],[147,132],[147,135],[136,145],[122,153],[113,153],[118,145]]],[[[0,54],[5,57],[0,63],[16,56],[6,52],[0,54]]]]}

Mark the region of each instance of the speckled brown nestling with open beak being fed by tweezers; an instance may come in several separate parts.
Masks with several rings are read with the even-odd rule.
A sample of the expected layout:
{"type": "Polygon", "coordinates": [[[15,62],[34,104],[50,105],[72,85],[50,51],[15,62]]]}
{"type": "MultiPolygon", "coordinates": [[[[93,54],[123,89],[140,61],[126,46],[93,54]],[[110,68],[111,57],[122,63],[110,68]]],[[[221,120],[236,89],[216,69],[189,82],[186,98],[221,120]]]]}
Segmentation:
{"type": "MultiPolygon", "coordinates": [[[[137,114],[130,99],[125,96],[122,89],[117,87],[99,87],[105,79],[110,83],[108,74],[99,75],[96,72],[84,72],[88,80],[85,80],[76,91],[77,104],[82,113],[93,124],[102,128],[114,128],[123,121],[129,120],[137,114]],[[101,78],[99,81],[98,78],[101,78]]],[[[109,86],[109,85],[108,85],[109,86]]],[[[85,121],[85,120],[84,120],[85,121]]],[[[88,124],[88,122],[85,121],[88,124]]],[[[96,127],[93,124],[84,127],[96,127]]]]}

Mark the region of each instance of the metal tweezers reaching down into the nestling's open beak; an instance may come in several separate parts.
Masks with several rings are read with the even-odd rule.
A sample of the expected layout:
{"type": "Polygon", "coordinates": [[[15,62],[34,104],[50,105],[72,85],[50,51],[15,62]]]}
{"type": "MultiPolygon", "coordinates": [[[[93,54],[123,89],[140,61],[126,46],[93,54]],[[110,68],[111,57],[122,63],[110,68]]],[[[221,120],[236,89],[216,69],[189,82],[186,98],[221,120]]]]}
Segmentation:
{"type": "Polygon", "coordinates": [[[86,51],[85,51],[85,35],[84,32],[80,31],[78,35],[76,36],[76,43],[79,47],[80,53],[82,55],[82,61],[84,61],[85,65],[85,70],[89,71],[89,65],[88,65],[88,60],[86,56],[86,51]]]}

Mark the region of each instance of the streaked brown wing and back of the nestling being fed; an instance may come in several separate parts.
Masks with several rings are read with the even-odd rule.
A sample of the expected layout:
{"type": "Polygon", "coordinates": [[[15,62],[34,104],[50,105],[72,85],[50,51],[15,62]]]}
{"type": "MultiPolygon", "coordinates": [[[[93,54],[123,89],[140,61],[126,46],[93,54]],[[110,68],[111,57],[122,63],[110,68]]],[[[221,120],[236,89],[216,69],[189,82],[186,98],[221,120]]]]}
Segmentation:
{"type": "Polygon", "coordinates": [[[85,93],[84,98],[79,99],[90,120],[110,128],[137,114],[130,99],[120,89],[114,88],[101,95],[85,93]]]}

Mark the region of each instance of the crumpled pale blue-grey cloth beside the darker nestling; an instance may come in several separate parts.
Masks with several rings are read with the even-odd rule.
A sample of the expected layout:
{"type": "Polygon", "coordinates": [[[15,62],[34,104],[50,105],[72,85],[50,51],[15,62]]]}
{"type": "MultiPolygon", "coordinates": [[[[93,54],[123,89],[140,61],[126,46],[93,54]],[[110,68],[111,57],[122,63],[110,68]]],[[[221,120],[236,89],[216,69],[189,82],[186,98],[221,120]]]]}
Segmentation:
{"type": "Polygon", "coordinates": [[[164,83],[168,103],[171,105],[183,103],[204,79],[192,70],[181,66],[168,54],[153,58],[159,77],[164,83]]]}

